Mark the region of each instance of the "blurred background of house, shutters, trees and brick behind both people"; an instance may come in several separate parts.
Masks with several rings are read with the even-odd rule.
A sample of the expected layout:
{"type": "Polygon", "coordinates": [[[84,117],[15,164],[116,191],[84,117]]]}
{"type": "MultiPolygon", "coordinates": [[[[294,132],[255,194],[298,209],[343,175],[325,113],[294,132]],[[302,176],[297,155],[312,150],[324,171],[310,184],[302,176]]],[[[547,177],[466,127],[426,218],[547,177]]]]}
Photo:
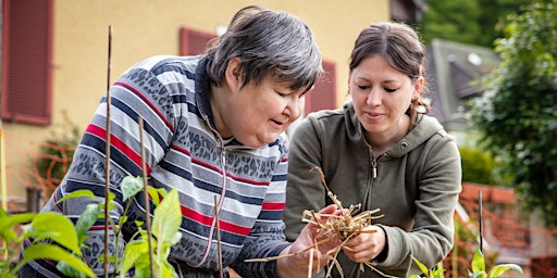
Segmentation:
{"type": "Polygon", "coordinates": [[[150,55],[200,53],[248,4],[293,13],[312,28],[327,78],[307,96],[305,114],[348,100],[348,59],[362,28],[411,25],[428,48],[431,114],[462,156],[446,277],[468,276],[480,237],[492,265],[516,263],[522,277],[557,277],[554,0],[2,0],[3,208],[40,208],[107,83],[150,55]]]}

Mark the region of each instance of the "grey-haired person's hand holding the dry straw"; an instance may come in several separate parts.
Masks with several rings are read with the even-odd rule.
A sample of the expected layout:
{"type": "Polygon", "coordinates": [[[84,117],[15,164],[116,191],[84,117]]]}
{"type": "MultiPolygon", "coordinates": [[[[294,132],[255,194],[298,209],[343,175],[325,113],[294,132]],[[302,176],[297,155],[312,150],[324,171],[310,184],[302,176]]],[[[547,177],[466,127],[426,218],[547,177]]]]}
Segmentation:
{"type": "MultiPolygon", "coordinates": [[[[341,211],[337,210],[336,205],[332,204],[323,210],[319,211],[319,214],[338,214],[341,211]]],[[[312,219],[320,224],[326,223],[327,216],[321,217],[321,219],[312,219]]],[[[294,243],[284,249],[281,255],[295,254],[286,258],[281,258],[276,263],[277,273],[280,277],[308,277],[309,258],[311,251],[313,250],[313,261],[311,273],[317,273],[323,268],[330,260],[329,254],[333,252],[341,241],[331,240],[327,242],[321,242],[314,247],[315,240],[321,241],[331,237],[326,235],[319,235],[321,227],[315,224],[308,224],[300,231],[300,235],[294,241],[294,243]],[[315,239],[315,237],[320,236],[315,239]]]]}

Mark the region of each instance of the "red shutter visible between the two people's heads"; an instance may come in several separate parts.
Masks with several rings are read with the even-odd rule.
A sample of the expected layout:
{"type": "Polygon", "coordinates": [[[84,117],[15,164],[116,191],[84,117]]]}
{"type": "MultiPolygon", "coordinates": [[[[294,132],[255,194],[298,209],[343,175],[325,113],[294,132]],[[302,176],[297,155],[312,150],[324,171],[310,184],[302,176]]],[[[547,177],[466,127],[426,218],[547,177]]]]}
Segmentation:
{"type": "Polygon", "coordinates": [[[324,78],[315,83],[315,88],[306,97],[305,114],[336,109],[336,67],[333,62],[323,61],[324,78]]]}

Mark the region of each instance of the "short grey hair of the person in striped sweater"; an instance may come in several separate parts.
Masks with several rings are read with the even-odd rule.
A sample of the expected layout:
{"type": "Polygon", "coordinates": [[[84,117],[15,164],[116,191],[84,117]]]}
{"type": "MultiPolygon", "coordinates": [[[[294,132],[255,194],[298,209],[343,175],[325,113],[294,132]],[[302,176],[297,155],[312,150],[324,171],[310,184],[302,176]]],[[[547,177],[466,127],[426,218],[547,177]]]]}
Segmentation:
{"type": "Polygon", "coordinates": [[[296,16],[257,5],[239,10],[205,55],[207,73],[221,86],[228,61],[239,58],[242,86],[267,78],[308,91],[323,72],[311,29],[296,16]]]}

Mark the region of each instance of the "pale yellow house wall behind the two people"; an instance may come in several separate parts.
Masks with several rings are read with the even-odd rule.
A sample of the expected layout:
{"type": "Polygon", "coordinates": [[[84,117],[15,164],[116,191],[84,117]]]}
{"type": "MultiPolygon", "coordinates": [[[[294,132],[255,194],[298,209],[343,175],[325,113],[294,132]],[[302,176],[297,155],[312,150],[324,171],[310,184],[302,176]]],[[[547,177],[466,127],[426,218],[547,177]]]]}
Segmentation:
{"type": "Polygon", "coordinates": [[[356,36],[371,22],[388,20],[388,0],[54,0],[53,125],[3,123],[9,194],[25,198],[15,178],[35,147],[64,121],[85,128],[107,88],[108,34],[112,26],[111,81],[153,54],[178,54],[178,29],[216,33],[247,4],[290,12],[315,35],[327,61],[336,63],[337,105],[346,100],[347,63],[356,36]]]}

